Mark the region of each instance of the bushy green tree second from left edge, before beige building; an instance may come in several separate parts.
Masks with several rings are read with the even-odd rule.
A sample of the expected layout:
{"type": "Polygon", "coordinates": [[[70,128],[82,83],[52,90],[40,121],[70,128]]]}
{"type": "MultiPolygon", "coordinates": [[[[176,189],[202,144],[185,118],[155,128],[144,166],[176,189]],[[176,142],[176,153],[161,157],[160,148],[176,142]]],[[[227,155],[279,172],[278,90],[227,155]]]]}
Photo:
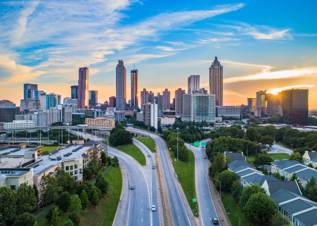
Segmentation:
{"type": "Polygon", "coordinates": [[[35,197],[34,189],[31,185],[25,183],[20,185],[16,192],[16,210],[17,215],[25,212],[32,212],[37,206],[37,197],[35,197]]]}

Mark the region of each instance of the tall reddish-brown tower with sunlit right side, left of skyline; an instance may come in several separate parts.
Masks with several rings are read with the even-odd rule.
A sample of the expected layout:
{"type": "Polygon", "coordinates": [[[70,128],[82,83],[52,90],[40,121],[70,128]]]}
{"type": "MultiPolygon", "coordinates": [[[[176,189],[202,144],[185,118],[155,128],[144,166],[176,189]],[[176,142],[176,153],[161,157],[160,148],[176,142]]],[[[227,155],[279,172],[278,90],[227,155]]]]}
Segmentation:
{"type": "Polygon", "coordinates": [[[89,69],[87,67],[79,68],[77,97],[79,109],[89,108],[89,69]]]}

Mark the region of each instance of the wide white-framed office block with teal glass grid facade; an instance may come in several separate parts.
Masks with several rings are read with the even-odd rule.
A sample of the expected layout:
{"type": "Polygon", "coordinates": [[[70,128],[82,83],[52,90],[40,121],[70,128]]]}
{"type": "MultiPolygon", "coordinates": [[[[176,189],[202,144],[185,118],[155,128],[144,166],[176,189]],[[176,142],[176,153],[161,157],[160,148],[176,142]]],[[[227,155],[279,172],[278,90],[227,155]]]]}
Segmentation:
{"type": "Polygon", "coordinates": [[[191,121],[215,122],[216,95],[204,94],[202,90],[194,89],[191,95],[191,121]]]}

